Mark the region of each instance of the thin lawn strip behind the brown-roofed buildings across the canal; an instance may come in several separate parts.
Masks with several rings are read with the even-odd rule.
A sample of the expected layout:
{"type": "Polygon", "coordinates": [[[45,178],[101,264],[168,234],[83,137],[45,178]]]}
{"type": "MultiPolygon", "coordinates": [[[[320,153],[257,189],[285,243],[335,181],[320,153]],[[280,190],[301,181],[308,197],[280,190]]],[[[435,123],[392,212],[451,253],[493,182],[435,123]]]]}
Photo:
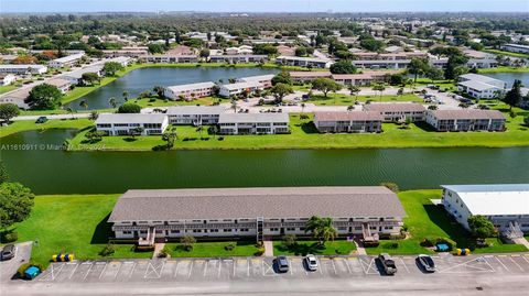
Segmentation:
{"type": "Polygon", "coordinates": [[[395,101],[414,101],[423,102],[423,99],[413,94],[404,94],[402,96],[384,95],[380,96],[348,96],[342,94],[327,94],[325,98],[323,95],[312,96],[306,102],[314,103],[316,106],[352,106],[355,100],[366,102],[367,100],[374,102],[395,102],[395,101]]]}

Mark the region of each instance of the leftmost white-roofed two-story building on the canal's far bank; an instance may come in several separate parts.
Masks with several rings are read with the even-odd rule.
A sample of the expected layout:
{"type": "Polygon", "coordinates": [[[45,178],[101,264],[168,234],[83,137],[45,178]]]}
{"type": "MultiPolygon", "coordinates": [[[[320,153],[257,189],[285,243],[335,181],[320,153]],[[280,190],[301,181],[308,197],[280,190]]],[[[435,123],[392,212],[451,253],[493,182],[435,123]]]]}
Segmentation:
{"type": "Polygon", "coordinates": [[[108,135],[128,135],[141,128],[141,135],[162,134],[169,125],[165,114],[102,113],[96,120],[97,131],[108,135]]]}

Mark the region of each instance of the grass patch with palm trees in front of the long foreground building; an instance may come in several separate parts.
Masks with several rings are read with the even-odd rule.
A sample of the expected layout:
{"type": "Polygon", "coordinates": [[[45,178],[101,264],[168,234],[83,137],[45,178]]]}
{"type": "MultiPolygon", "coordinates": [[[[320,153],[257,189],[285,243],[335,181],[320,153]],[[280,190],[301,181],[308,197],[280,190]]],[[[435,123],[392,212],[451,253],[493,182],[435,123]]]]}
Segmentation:
{"type": "Polygon", "coordinates": [[[274,255],[347,255],[356,250],[354,242],[335,240],[325,243],[325,248],[317,245],[317,241],[296,241],[293,246],[287,246],[282,241],[273,241],[274,255]]]}

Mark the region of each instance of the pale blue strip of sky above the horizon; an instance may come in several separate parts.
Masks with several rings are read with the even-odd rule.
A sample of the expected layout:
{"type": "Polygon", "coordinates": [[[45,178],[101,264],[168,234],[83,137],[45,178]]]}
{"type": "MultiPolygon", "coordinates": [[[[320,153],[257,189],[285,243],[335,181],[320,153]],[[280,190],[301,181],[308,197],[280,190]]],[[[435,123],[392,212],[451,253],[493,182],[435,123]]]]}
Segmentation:
{"type": "Polygon", "coordinates": [[[0,0],[0,12],[528,12],[529,0],[0,0]]]}

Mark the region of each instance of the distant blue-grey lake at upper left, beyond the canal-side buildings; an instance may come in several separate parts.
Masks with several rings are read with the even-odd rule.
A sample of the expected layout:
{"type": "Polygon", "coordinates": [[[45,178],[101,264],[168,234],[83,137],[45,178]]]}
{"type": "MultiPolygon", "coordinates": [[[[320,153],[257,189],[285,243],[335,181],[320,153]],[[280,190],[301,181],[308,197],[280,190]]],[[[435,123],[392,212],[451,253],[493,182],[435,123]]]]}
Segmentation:
{"type": "MultiPolygon", "coordinates": [[[[122,102],[122,92],[127,90],[129,98],[136,98],[145,90],[152,90],[154,86],[174,86],[195,83],[214,81],[223,79],[228,83],[229,78],[276,74],[276,68],[260,67],[147,67],[132,70],[126,76],[100,87],[84,96],[89,109],[110,108],[108,100],[116,98],[122,102]]],[[[74,110],[83,109],[80,99],[65,106],[74,110]]]]}

